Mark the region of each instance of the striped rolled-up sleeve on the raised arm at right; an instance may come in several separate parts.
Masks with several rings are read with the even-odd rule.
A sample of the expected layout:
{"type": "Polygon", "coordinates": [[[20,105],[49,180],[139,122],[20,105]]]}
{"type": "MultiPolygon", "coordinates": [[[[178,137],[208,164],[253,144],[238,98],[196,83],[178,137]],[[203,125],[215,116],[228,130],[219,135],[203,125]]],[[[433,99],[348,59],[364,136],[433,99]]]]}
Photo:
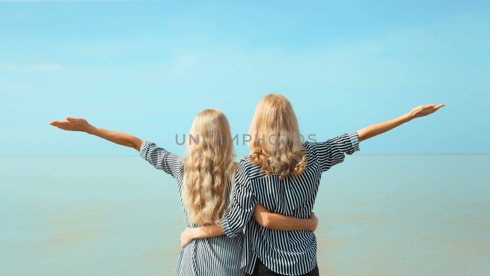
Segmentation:
{"type": "Polygon", "coordinates": [[[357,131],[352,131],[324,142],[314,143],[312,147],[319,157],[321,171],[326,171],[342,163],[345,154],[351,155],[359,150],[359,135],[357,131]]]}

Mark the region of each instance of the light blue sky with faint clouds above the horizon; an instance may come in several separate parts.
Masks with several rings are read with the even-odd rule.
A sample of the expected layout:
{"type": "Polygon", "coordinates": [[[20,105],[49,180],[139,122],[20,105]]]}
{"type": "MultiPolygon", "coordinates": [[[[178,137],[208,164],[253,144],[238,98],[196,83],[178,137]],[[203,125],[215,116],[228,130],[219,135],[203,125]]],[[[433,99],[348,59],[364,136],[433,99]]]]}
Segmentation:
{"type": "Polygon", "coordinates": [[[361,153],[490,152],[490,5],[395,2],[0,1],[0,155],[136,154],[66,116],[183,154],[200,110],[242,134],[272,92],[319,140],[446,104],[361,153]]]}

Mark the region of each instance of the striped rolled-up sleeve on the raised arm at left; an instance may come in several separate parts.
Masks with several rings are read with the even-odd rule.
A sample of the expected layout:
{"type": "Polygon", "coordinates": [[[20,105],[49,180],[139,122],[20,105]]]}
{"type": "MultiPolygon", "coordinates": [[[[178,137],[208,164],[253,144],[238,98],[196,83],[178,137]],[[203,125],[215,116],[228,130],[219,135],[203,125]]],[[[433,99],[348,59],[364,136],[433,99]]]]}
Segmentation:
{"type": "Polygon", "coordinates": [[[184,165],[184,157],[158,147],[154,142],[150,141],[143,143],[140,148],[140,156],[155,168],[172,175],[173,178],[177,177],[178,172],[182,170],[184,165]]]}

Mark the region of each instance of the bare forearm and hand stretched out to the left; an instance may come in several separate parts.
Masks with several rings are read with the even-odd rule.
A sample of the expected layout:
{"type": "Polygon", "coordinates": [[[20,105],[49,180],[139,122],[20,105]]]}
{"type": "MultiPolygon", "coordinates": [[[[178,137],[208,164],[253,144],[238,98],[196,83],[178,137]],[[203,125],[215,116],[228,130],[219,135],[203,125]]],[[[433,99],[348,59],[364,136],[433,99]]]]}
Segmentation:
{"type": "Polygon", "coordinates": [[[82,118],[66,117],[66,121],[52,121],[49,124],[62,130],[86,132],[119,145],[132,147],[137,151],[140,151],[141,145],[145,142],[129,134],[95,127],[82,118]]]}

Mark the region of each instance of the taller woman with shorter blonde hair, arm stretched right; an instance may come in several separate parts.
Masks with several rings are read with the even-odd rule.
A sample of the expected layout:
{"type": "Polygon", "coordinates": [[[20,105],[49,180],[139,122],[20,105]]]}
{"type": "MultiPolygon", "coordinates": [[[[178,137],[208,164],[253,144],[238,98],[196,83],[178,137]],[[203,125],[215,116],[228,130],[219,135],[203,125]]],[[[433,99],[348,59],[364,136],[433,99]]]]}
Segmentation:
{"type": "Polygon", "coordinates": [[[293,107],[284,96],[267,95],[255,110],[249,130],[250,154],[238,164],[235,193],[221,220],[222,227],[208,228],[207,235],[200,236],[224,231],[228,237],[235,237],[246,225],[243,272],[252,276],[318,276],[315,234],[263,227],[250,220],[255,204],[261,202],[270,211],[308,218],[322,172],[343,162],[345,154],[358,151],[360,141],[434,113],[442,106],[419,106],[396,119],[317,143],[302,140],[293,107]]]}

